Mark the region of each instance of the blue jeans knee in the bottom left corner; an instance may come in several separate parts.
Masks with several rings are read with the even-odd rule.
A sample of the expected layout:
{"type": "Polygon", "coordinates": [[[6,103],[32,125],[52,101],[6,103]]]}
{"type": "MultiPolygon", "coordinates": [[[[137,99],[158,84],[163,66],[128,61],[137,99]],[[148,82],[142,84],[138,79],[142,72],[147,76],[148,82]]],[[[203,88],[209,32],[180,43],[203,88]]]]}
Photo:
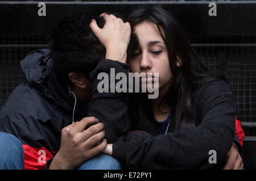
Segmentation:
{"type": "Polygon", "coordinates": [[[9,133],[0,132],[0,170],[24,169],[22,143],[9,133]]]}

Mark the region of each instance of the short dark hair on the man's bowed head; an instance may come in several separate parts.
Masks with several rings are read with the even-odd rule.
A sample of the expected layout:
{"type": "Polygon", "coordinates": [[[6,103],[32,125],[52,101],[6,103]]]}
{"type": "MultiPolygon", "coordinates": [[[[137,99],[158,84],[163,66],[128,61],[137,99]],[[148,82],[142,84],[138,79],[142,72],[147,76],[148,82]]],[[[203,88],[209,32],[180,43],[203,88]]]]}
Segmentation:
{"type": "Polygon", "coordinates": [[[89,78],[99,61],[105,58],[105,48],[89,27],[92,19],[102,28],[104,18],[79,12],[60,20],[50,33],[53,69],[64,83],[70,81],[71,72],[82,73],[89,78]]]}

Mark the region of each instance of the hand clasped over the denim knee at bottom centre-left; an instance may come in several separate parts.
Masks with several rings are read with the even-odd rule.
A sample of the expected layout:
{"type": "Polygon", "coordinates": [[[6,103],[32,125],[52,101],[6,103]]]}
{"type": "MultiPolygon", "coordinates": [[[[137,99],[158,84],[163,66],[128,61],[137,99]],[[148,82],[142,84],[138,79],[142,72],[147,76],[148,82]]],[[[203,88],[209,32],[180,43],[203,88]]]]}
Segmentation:
{"type": "Polygon", "coordinates": [[[104,125],[95,117],[85,117],[68,125],[61,131],[61,146],[53,158],[49,169],[75,169],[86,159],[106,148],[104,125]],[[92,125],[84,130],[88,125],[92,125]],[[101,141],[102,140],[102,141],[101,141]]]}

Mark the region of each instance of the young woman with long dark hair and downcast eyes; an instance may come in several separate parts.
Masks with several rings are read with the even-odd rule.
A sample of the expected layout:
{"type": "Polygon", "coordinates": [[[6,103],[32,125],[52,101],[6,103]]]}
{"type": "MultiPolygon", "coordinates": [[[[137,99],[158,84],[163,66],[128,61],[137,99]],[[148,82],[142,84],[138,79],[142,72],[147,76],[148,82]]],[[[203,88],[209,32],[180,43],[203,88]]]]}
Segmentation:
{"type": "MultiPolygon", "coordinates": [[[[130,94],[130,118],[140,132],[121,137],[105,153],[129,169],[223,169],[236,123],[229,84],[201,64],[179,24],[162,7],[140,7],[127,21],[138,37],[129,47],[130,71],[158,73],[142,78],[141,86],[151,81],[157,86],[158,79],[159,96],[130,94]]],[[[106,44],[102,37],[108,34],[94,33],[106,44]]],[[[242,161],[232,168],[242,169],[242,161]]]]}

